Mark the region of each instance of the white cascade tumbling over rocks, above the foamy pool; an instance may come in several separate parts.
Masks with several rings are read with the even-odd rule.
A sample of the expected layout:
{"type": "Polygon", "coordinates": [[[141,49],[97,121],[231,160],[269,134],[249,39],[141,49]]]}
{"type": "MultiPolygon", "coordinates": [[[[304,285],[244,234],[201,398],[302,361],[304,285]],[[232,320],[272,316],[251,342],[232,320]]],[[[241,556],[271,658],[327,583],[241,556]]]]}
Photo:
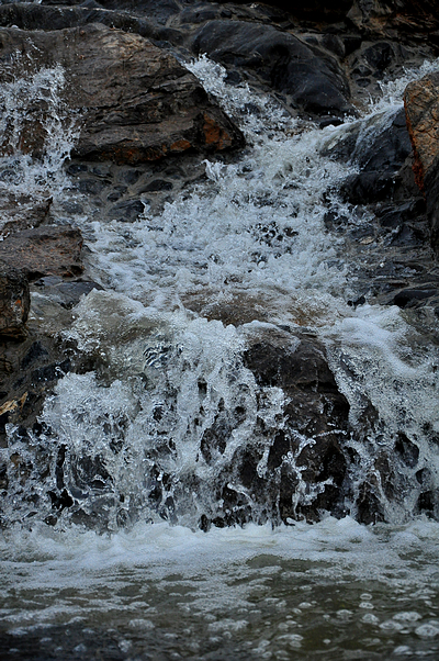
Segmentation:
{"type": "MultiPolygon", "coordinates": [[[[35,94],[47,97],[49,85],[50,142],[43,163],[15,149],[3,172],[15,158],[16,190],[32,178],[32,186],[43,181],[58,197],[61,190],[82,203],[86,211],[74,220],[104,289],[83,298],[71,326],[59,329],[66,350],[79,350],[95,369],[60,379],[34,429],[9,425],[3,520],[117,530],[166,519],[209,529],[212,523],[315,519],[325,508],[361,520],[369,497],[372,520],[403,523],[418,513],[427,492],[437,515],[437,351],[426,351],[398,307],[348,304],[361,293],[354,265],[344,254],[344,237],[325,227],[328,206],[357,227],[367,222],[338,188],[356,171],[356,153],[392,122],[410,72],[389,85],[364,117],[316,130],[247,86],[227,88],[225,69],[206,57],[188,67],[209,91],[223,92],[248,147],[234,163],[205,160],[202,181],[161,214],[140,198],[144,211],[128,226],[99,217],[60,179],[66,141],[75,141],[56,91],[60,68],[40,71],[32,85],[26,78],[13,83],[14,94],[23,100],[25,90],[31,105],[35,94]],[[340,165],[328,149],[356,126],[352,163],[340,165]],[[349,427],[334,416],[318,433],[336,448],[335,475],[308,475],[299,458],[309,456],[317,437],[288,421],[302,404],[291,403],[279,379],[263,381],[251,371],[257,352],[268,350],[255,354],[258,341],[286,350],[281,360],[288,366],[301,338],[326,348],[349,403],[349,427]],[[282,461],[275,459],[286,442],[281,437],[293,438],[282,461]],[[18,480],[19,473],[25,478],[18,480]],[[335,485],[337,497],[325,501],[335,485]],[[369,489],[373,494],[364,496],[369,489]]],[[[4,131],[18,134],[20,104],[10,115],[4,131]]]]}

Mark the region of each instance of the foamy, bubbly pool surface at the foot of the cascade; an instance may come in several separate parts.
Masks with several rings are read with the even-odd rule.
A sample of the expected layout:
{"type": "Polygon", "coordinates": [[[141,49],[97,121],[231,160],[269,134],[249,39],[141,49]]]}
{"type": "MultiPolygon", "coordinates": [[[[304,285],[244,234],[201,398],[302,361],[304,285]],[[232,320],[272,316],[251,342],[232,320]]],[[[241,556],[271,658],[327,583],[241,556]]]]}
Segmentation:
{"type": "Polygon", "coordinates": [[[423,520],[11,531],[2,659],[436,659],[438,551],[423,520]]]}

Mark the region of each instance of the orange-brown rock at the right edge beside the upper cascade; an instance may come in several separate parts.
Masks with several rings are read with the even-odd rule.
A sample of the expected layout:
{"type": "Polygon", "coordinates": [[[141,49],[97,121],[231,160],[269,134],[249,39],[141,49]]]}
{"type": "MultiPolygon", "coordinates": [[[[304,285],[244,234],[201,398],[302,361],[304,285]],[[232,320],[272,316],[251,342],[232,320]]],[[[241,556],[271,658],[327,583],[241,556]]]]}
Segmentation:
{"type": "Polygon", "coordinates": [[[439,253],[439,74],[407,86],[404,96],[416,183],[424,192],[431,245],[439,253]]]}

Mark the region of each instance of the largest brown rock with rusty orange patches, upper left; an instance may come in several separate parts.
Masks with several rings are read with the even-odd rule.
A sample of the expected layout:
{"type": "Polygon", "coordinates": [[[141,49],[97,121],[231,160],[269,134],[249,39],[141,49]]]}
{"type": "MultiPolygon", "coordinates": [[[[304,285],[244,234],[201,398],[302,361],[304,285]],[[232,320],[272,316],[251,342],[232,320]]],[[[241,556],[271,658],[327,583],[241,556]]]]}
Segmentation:
{"type": "MultiPolygon", "coordinates": [[[[136,164],[244,144],[196,78],[138,35],[93,24],[56,32],[3,29],[0,41],[3,61],[20,51],[22,57],[32,53],[35,69],[64,67],[64,101],[80,113],[75,156],[136,164]]],[[[0,81],[7,76],[9,65],[0,68],[0,81]]],[[[33,128],[26,127],[27,148],[38,153],[41,122],[33,128]]]]}

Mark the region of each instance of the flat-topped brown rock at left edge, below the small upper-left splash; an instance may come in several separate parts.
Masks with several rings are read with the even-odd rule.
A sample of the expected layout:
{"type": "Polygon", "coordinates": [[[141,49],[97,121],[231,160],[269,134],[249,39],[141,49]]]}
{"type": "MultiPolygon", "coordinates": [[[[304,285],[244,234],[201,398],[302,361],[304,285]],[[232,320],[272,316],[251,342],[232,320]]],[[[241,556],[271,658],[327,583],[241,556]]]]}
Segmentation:
{"type": "Polygon", "coordinates": [[[30,280],[78,276],[83,270],[81,247],[80,231],[69,225],[35,227],[0,242],[0,262],[21,269],[30,280]]]}

